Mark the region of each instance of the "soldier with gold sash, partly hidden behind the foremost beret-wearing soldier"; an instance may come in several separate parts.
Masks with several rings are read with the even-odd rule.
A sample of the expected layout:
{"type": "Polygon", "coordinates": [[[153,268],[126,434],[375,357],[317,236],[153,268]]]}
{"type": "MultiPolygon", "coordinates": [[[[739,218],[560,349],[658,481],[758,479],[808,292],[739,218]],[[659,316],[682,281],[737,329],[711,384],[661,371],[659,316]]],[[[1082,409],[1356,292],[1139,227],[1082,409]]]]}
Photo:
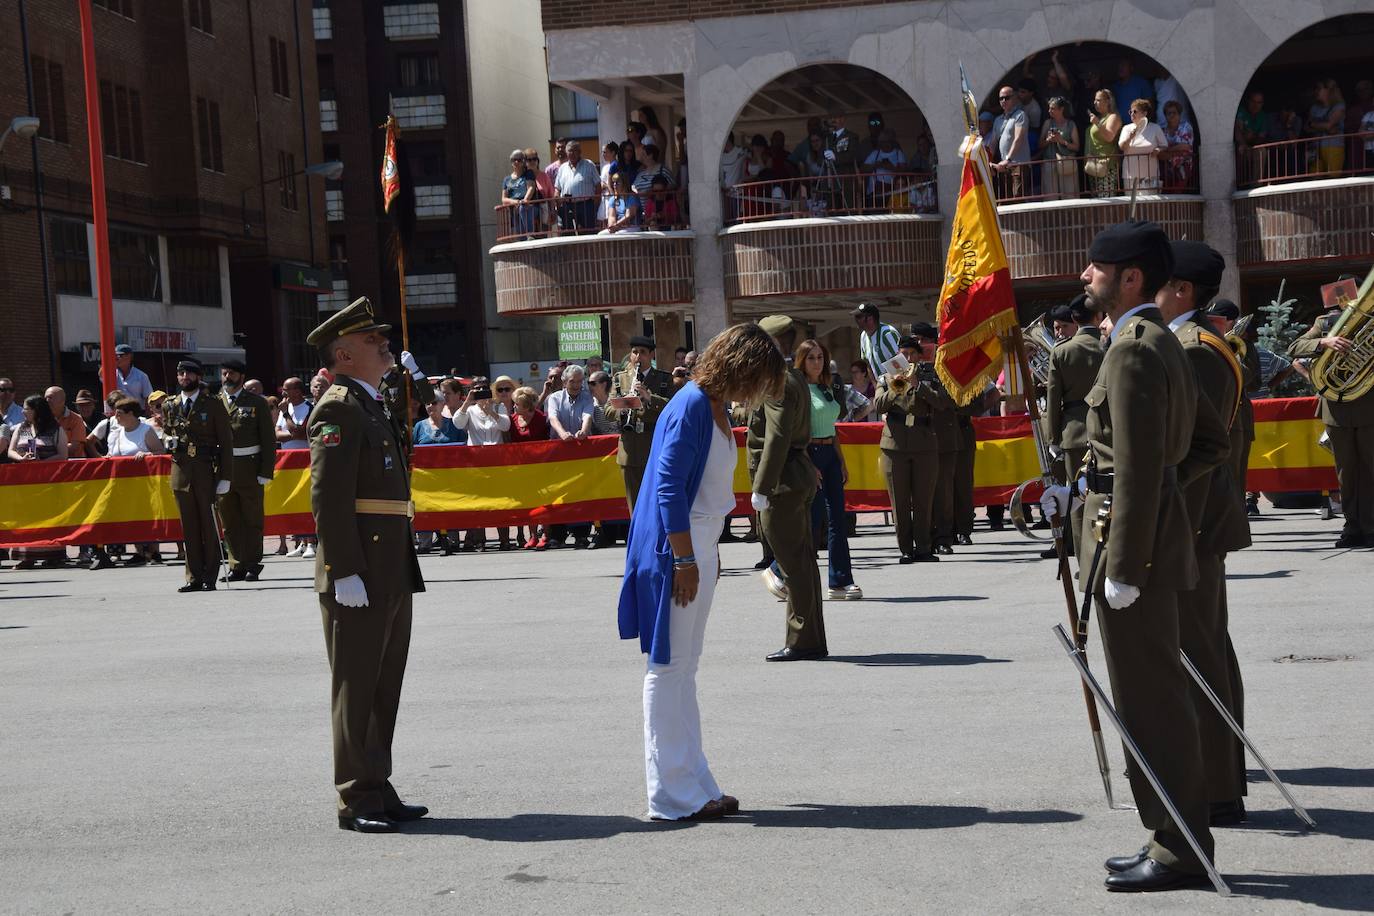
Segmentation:
{"type": "MultiPolygon", "coordinates": [[[[1198,393],[1226,423],[1234,453],[1245,448],[1241,424],[1245,374],[1231,345],[1212,330],[1202,312],[1221,286],[1226,261],[1202,242],[1173,242],[1171,247],[1173,279],[1160,290],[1156,304],[1183,345],[1198,393]]],[[[1184,490],[1197,538],[1198,584],[1179,592],[1183,651],[1239,722],[1245,721],[1245,688],[1241,663],[1227,630],[1226,555],[1250,545],[1242,490],[1232,461],[1220,464],[1184,490]]],[[[1193,702],[1202,735],[1212,825],[1238,824],[1245,820],[1245,747],[1197,685],[1193,687],[1193,702]]]]}

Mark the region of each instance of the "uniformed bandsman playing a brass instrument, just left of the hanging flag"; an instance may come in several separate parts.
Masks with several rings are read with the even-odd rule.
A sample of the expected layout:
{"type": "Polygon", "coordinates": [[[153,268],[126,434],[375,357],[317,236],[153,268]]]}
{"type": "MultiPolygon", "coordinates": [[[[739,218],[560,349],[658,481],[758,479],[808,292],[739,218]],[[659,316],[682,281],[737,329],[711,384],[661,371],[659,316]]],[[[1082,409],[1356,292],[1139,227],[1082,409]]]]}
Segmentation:
{"type": "Polygon", "coordinates": [[[899,563],[934,563],[930,542],[930,507],[936,496],[940,467],[940,442],[933,417],[949,401],[944,387],[918,376],[921,341],[904,336],[897,349],[912,364],[900,380],[886,374],[878,379],[874,409],[883,415],[882,438],[878,441],[878,467],[888,479],[888,499],[897,529],[899,563]]]}

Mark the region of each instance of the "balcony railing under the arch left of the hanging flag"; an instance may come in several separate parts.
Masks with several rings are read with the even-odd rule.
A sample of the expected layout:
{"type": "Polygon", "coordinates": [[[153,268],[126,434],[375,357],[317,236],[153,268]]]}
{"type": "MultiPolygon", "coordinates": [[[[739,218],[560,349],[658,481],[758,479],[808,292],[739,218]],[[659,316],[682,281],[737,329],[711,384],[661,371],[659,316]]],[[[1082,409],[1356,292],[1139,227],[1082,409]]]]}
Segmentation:
{"type": "Polygon", "coordinates": [[[802,217],[937,213],[934,176],[922,172],[826,174],[746,181],[724,192],[725,225],[802,217]]]}

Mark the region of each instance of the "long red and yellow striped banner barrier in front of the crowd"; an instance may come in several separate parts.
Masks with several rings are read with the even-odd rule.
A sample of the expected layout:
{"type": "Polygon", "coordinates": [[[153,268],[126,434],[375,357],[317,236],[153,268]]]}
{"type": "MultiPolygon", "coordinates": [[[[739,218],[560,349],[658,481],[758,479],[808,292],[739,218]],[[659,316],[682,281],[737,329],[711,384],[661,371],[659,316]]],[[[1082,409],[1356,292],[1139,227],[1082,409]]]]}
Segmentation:
{"type": "MultiPolygon", "coordinates": [[[[1331,455],[1316,439],[1322,423],[1315,398],[1254,402],[1256,441],[1248,488],[1267,493],[1336,489],[1331,455]]],[[[1022,481],[1039,475],[1025,416],[976,417],[978,453],[974,501],[1003,503],[1022,481]]],[[[889,508],[878,470],[878,423],[841,423],[838,435],[851,509],[889,508]]],[[[736,512],[749,511],[743,430],[735,430],[736,512]]],[[[181,537],[168,482],[170,459],[91,459],[0,466],[0,547],[126,544],[181,537]]],[[[616,466],[616,438],[469,448],[433,445],[415,450],[416,530],[508,525],[556,525],[625,516],[625,490],[616,466]]],[[[308,534],[311,456],[279,452],[265,494],[265,533],[308,534]]]]}

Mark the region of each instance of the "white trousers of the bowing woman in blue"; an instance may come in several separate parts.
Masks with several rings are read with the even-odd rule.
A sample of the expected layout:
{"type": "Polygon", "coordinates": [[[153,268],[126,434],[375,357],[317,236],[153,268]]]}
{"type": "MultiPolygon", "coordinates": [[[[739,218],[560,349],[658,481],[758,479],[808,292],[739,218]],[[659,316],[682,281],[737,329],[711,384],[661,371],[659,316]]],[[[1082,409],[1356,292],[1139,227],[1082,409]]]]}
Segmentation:
{"type": "Polygon", "coordinates": [[[650,817],[686,817],[721,794],[701,748],[697,666],[716,595],[716,544],[723,526],[724,519],[719,516],[692,516],[691,541],[701,586],[687,607],[673,604],[669,611],[672,659],[668,665],[650,661],[644,672],[644,776],[650,817]]]}

